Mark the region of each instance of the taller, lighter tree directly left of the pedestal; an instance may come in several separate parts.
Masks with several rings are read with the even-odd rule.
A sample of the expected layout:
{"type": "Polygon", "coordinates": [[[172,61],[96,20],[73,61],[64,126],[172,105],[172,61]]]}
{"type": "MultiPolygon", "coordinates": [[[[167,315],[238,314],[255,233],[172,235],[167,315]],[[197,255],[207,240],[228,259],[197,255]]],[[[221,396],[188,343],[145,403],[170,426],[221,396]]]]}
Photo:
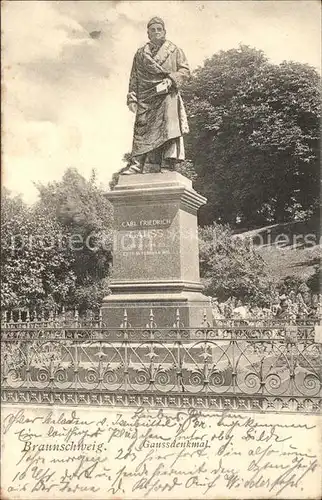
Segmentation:
{"type": "Polygon", "coordinates": [[[112,205],[96,185],[77,170],[68,169],[62,180],[38,185],[39,208],[47,207],[63,229],[76,275],[68,302],[79,308],[97,307],[108,290],[112,260],[112,205]]]}

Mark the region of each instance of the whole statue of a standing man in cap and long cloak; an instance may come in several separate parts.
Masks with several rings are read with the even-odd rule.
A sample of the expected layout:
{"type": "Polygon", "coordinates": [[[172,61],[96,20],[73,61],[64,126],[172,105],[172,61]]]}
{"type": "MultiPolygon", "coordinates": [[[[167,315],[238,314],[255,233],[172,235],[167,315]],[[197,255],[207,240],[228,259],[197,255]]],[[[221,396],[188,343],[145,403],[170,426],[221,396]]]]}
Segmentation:
{"type": "Polygon", "coordinates": [[[136,114],[131,160],[122,174],[175,170],[184,160],[184,133],[189,131],[180,86],[190,76],[181,49],[166,40],[164,21],[147,25],[149,42],[134,56],[127,105],[136,114]]]}

